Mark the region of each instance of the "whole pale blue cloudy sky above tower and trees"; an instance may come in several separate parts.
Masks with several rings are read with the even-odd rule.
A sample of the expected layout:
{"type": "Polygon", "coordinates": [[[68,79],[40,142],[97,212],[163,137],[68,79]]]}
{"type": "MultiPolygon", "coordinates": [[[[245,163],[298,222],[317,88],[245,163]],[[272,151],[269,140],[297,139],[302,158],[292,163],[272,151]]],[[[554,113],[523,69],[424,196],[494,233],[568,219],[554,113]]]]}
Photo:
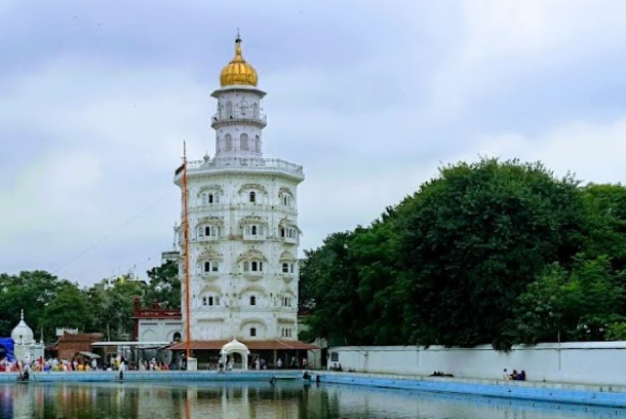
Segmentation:
{"type": "Polygon", "coordinates": [[[305,167],[303,248],[461,159],[626,182],[621,0],[1,0],[0,272],[159,263],[237,27],[265,154],[305,167]]]}

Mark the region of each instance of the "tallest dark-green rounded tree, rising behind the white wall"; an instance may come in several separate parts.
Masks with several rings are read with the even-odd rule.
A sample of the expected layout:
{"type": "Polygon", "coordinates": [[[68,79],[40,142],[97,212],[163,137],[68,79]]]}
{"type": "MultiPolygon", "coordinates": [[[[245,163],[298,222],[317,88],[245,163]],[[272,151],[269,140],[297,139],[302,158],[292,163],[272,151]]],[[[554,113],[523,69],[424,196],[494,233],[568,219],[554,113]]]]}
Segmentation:
{"type": "Polygon", "coordinates": [[[493,343],[518,295],[579,247],[579,192],[540,164],[484,159],[440,171],[399,208],[406,315],[424,345],[493,343]]]}

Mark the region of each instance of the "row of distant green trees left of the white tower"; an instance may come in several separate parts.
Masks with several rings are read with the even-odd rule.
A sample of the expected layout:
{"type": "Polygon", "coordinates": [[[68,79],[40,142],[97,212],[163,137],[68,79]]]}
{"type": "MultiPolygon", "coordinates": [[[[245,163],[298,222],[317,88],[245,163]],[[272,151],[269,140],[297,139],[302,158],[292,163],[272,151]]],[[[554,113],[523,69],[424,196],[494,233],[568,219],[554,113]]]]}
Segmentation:
{"type": "Polygon", "coordinates": [[[42,270],[0,274],[0,336],[10,336],[24,309],[24,320],[39,339],[54,339],[57,327],[103,333],[111,340],[131,337],[134,297],[145,306],[156,299],[163,308],[180,308],[177,264],[168,261],[147,272],[148,280],[131,274],[102,279],[81,287],[42,270]]]}

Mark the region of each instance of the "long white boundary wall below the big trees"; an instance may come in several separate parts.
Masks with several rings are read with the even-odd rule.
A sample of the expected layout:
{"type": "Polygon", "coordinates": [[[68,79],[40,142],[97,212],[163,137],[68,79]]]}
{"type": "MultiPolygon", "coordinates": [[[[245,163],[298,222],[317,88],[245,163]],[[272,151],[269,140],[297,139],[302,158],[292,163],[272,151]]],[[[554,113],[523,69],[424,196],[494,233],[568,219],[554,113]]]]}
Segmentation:
{"type": "Polygon", "coordinates": [[[490,345],[472,348],[431,346],[341,346],[337,352],[344,371],[377,374],[431,375],[501,379],[507,368],[527,373],[529,381],[626,385],[626,341],[540,343],[497,352],[490,345]]]}

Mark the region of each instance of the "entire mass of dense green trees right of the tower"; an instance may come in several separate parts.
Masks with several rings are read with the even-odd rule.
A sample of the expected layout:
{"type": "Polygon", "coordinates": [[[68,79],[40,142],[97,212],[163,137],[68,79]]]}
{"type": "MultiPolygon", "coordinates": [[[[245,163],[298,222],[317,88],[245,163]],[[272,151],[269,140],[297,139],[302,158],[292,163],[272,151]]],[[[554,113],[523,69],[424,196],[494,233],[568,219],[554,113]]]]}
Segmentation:
{"type": "Polygon", "coordinates": [[[625,223],[620,185],[581,186],[540,163],[447,165],[369,227],[305,252],[308,333],[502,350],[622,336],[625,223]]]}

